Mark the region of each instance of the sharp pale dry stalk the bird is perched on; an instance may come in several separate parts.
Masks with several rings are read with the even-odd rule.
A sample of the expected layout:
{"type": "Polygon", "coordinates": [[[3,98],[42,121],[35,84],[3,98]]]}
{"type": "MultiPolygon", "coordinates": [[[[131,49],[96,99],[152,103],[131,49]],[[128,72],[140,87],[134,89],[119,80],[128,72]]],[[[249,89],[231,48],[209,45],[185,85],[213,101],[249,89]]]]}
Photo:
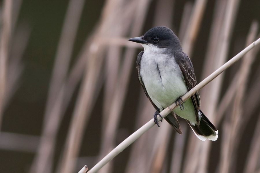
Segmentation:
{"type": "MultiPolygon", "coordinates": [[[[197,93],[201,88],[203,88],[205,85],[207,85],[211,80],[216,78],[218,75],[220,75],[224,70],[229,68],[231,65],[233,65],[236,61],[241,59],[249,50],[254,48],[257,44],[260,44],[260,38],[250,44],[248,47],[246,47],[244,50],[239,52],[235,57],[230,59],[228,62],[226,62],[224,65],[222,65],[220,68],[218,68],[215,72],[213,72],[211,75],[209,75],[207,78],[205,78],[203,81],[201,81],[198,85],[196,85],[193,89],[188,91],[185,95],[183,95],[182,99],[183,101],[190,98],[192,95],[197,93]]],[[[175,103],[170,105],[168,108],[164,109],[162,112],[160,112],[161,116],[164,118],[167,116],[174,108],[176,108],[178,105],[175,103]]],[[[158,121],[160,121],[162,118],[158,117],[158,121]]],[[[99,169],[101,169],[105,164],[107,164],[110,160],[112,160],[116,155],[118,155],[120,152],[122,152],[127,146],[129,146],[131,143],[133,143],[135,140],[137,140],[140,136],[142,136],[148,129],[153,127],[155,125],[153,119],[148,121],[145,125],[140,127],[137,131],[135,131],[132,135],[130,135],[127,139],[125,139],[123,142],[121,142],[116,148],[114,148],[110,153],[108,153],[99,163],[97,163],[90,171],[97,172],[99,169]]]]}

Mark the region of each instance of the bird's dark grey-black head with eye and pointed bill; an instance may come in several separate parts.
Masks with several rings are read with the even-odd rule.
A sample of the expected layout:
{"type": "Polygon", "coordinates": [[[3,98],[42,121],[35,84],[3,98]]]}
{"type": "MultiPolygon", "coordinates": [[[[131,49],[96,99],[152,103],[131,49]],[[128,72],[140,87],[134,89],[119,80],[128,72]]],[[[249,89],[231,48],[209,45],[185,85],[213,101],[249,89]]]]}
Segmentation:
{"type": "Polygon", "coordinates": [[[141,43],[157,48],[181,50],[181,43],[174,32],[167,27],[154,27],[149,29],[143,36],[129,39],[129,41],[141,43]]]}

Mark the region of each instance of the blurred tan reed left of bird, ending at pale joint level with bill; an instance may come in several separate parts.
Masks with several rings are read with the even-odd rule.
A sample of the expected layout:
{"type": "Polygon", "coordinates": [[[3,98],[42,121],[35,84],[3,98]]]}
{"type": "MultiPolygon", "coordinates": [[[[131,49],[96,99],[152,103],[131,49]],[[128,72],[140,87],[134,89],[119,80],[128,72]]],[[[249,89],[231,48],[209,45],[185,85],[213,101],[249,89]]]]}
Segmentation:
{"type": "Polygon", "coordinates": [[[101,72],[101,64],[103,60],[101,53],[103,50],[101,50],[102,48],[98,45],[95,45],[95,43],[93,43],[92,46],[94,47],[92,47],[92,49],[90,48],[91,50],[88,54],[92,57],[92,60],[88,61],[87,64],[86,75],[79,91],[79,97],[73,112],[73,119],[70,124],[68,137],[66,139],[64,155],[57,172],[72,172],[74,169],[75,157],[79,152],[83,129],[90,116],[87,111],[90,111],[90,108],[93,106],[92,99],[95,97],[94,92],[101,72]]]}

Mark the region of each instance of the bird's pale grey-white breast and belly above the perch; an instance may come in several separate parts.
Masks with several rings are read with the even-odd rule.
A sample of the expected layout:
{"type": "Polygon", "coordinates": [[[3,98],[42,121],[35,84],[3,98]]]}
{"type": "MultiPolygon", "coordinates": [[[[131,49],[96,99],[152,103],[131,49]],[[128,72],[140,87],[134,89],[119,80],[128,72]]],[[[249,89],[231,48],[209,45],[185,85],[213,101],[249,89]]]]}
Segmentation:
{"type": "Polygon", "coordinates": [[[148,95],[161,106],[168,106],[187,92],[179,65],[172,55],[145,51],[140,74],[148,95]]]}

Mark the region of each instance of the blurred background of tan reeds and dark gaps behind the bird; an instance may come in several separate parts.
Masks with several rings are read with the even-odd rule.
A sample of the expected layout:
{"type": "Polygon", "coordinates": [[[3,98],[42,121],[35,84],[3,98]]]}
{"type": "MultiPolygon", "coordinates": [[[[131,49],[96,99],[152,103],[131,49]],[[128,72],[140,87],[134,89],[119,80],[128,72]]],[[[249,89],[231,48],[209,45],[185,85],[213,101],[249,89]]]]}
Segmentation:
{"type": "MultiPolygon", "coordinates": [[[[0,172],[92,168],[153,118],[138,82],[142,47],[170,27],[198,82],[260,37],[259,0],[107,0],[0,3],[0,172]]],[[[201,91],[219,130],[200,141],[179,118],[154,126],[100,172],[260,172],[259,46],[201,91]]]]}

